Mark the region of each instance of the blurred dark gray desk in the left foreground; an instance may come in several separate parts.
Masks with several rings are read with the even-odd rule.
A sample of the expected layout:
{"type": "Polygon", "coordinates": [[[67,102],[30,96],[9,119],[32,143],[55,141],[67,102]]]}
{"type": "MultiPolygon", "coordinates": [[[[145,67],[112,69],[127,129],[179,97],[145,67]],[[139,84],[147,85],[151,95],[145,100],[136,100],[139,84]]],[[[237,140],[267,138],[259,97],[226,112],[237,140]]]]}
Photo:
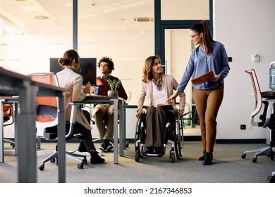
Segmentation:
{"type": "MultiPolygon", "coordinates": [[[[65,182],[65,89],[32,82],[30,77],[0,67],[0,96],[19,96],[18,182],[37,182],[35,96],[59,96],[59,182],[65,182]]],[[[3,130],[0,152],[3,158],[3,130]]]]}

